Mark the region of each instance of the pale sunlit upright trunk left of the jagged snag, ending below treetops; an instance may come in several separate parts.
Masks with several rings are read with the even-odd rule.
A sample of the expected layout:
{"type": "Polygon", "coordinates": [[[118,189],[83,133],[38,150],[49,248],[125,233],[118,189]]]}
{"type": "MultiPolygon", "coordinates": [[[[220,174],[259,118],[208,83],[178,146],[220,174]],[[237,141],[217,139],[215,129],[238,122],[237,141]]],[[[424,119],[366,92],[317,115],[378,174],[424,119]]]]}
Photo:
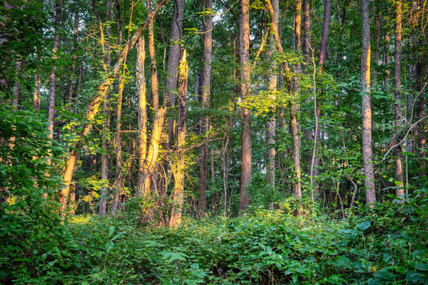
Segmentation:
{"type": "Polygon", "coordinates": [[[138,40],[136,79],[138,94],[138,176],[136,196],[142,197],[149,193],[144,192],[144,178],[147,170],[145,169],[145,156],[147,155],[147,101],[145,98],[145,78],[144,78],[144,58],[145,48],[144,40],[138,40]]]}

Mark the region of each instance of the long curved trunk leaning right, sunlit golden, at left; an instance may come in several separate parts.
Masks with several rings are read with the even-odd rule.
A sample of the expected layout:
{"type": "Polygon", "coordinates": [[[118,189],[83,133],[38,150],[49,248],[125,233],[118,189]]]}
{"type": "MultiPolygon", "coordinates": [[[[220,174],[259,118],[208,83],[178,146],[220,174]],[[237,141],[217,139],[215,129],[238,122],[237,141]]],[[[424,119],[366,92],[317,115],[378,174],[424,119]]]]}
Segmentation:
{"type": "Polygon", "coordinates": [[[164,6],[164,3],[166,3],[168,0],[161,0],[159,3],[157,3],[157,6],[155,10],[152,11],[152,13],[148,16],[145,23],[136,30],[134,33],[134,36],[129,39],[129,41],[124,46],[124,50],[120,53],[119,57],[117,58],[115,66],[113,66],[110,73],[108,73],[108,77],[104,80],[104,82],[101,83],[98,87],[97,96],[92,99],[92,102],[89,105],[89,109],[87,112],[87,115],[85,117],[86,123],[83,125],[82,131],[80,132],[78,138],[76,139],[76,142],[73,144],[73,150],[71,151],[71,154],[69,156],[69,159],[66,163],[66,169],[64,171],[64,187],[61,190],[61,198],[59,199],[61,205],[62,205],[62,217],[64,217],[64,210],[67,205],[67,199],[69,196],[70,191],[70,184],[71,179],[73,178],[74,169],[76,168],[76,162],[78,159],[78,151],[83,146],[83,138],[87,136],[87,134],[90,132],[90,129],[92,128],[92,121],[94,120],[95,115],[97,115],[99,111],[99,105],[101,104],[101,99],[106,96],[106,93],[108,92],[108,88],[110,87],[111,81],[115,76],[117,75],[117,72],[120,71],[120,68],[122,68],[122,64],[124,63],[125,58],[127,57],[127,54],[129,53],[129,50],[131,50],[132,47],[134,47],[136,41],[138,41],[138,38],[140,38],[141,33],[145,30],[145,28],[148,25],[148,21],[155,17],[157,12],[164,6]]]}

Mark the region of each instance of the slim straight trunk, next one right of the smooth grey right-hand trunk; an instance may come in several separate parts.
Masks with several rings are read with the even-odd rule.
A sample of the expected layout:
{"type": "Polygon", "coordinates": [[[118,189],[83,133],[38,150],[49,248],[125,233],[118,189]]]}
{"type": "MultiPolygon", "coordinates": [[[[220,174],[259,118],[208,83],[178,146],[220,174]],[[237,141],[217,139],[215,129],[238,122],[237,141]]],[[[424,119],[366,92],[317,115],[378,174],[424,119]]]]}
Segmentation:
{"type": "MultiPolygon", "coordinates": [[[[399,136],[401,126],[401,6],[402,0],[396,1],[395,10],[395,43],[394,43],[394,126],[396,136],[393,145],[401,140],[399,136]]],[[[404,183],[403,183],[403,154],[401,145],[395,148],[395,180],[397,181],[397,196],[401,196],[401,203],[404,203],[404,183]]]]}

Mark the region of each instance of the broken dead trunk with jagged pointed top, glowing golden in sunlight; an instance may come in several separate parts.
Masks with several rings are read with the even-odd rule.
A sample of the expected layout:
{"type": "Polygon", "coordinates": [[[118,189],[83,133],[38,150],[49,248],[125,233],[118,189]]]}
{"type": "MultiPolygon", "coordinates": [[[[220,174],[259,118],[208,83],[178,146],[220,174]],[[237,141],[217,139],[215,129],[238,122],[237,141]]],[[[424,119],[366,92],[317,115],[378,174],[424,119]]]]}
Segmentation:
{"type": "Polygon", "coordinates": [[[186,96],[187,96],[187,54],[183,51],[183,57],[180,60],[178,70],[178,136],[177,136],[177,166],[174,173],[174,194],[173,210],[169,226],[176,228],[181,224],[181,214],[184,204],[184,170],[185,153],[184,145],[186,140],[186,96]]]}

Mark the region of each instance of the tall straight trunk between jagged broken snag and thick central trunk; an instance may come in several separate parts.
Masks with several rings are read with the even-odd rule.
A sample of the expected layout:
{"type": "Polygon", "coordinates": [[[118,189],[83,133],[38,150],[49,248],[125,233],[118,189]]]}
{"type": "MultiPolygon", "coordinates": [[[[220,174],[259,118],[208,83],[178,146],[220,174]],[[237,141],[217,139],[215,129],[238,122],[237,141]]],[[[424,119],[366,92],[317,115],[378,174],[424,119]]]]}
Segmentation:
{"type": "MultiPolygon", "coordinates": [[[[213,1],[205,0],[204,12],[204,68],[202,68],[202,85],[201,85],[201,103],[202,110],[206,110],[210,105],[210,82],[211,82],[211,54],[213,47],[213,1]]],[[[202,118],[202,133],[208,131],[208,117],[202,118]]],[[[199,177],[199,197],[198,197],[198,209],[200,214],[206,212],[206,176],[207,176],[207,156],[208,156],[208,143],[201,145],[201,166],[200,166],[200,177],[199,177]]]]}

